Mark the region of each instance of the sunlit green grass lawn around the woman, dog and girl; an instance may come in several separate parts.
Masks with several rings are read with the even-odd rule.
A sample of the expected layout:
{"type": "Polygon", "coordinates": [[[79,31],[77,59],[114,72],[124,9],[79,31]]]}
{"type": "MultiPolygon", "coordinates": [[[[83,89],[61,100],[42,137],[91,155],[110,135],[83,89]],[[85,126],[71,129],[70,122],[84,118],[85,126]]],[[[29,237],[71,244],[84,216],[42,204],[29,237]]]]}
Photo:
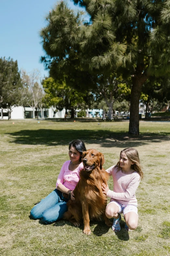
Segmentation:
{"type": "MultiPolygon", "coordinates": [[[[170,255],[170,123],[141,121],[139,136],[129,136],[128,125],[0,121],[0,255],[170,255]],[[91,221],[92,234],[86,236],[83,226],[29,218],[34,203],[55,189],[68,143],[76,138],[104,153],[105,169],[117,163],[121,149],[138,150],[145,179],[136,192],[137,230],[125,231],[123,218],[116,234],[103,221],[91,221]]],[[[112,178],[108,184],[112,189],[112,178]]]]}

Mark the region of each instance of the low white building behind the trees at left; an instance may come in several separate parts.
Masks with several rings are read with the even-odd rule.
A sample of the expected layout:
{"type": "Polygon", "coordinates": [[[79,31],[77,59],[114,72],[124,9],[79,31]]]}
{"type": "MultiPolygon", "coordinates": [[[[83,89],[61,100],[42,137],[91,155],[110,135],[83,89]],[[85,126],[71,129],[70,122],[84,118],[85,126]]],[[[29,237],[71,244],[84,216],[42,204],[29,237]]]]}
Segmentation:
{"type": "MultiPolygon", "coordinates": [[[[1,109],[0,109],[0,119],[1,118],[1,109]]],[[[55,108],[42,109],[38,111],[39,118],[64,118],[65,109],[58,111],[55,108]]],[[[35,111],[35,118],[37,117],[37,111],[35,111]]],[[[31,107],[14,107],[11,112],[11,119],[25,119],[33,118],[33,108],[31,107]]],[[[6,109],[3,109],[3,119],[8,119],[8,113],[6,109]]]]}

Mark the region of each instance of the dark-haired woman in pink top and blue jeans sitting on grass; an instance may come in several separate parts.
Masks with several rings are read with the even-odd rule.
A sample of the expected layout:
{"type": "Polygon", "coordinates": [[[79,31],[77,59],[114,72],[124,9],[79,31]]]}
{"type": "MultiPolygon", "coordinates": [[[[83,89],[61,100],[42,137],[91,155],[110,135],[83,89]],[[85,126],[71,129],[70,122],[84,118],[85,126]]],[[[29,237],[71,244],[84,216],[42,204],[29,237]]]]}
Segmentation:
{"type": "Polygon", "coordinates": [[[80,179],[79,172],[84,168],[82,152],[86,147],[81,140],[73,140],[69,143],[70,160],[64,162],[59,173],[56,189],[31,210],[33,219],[40,219],[45,224],[50,224],[63,217],[67,211],[67,201],[75,200],[74,189],[80,179]]]}

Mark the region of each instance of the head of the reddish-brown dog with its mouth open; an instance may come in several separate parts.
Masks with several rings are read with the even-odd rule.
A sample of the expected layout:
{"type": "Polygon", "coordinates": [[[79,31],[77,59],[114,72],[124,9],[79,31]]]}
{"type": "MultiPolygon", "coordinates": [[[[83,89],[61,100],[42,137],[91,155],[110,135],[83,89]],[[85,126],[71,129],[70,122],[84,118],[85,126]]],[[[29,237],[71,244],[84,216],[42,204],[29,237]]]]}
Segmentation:
{"type": "Polygon", "coordinates": [[[104,155],[96,149],[88,149],[87,151],[84,151],[82,161],[87,172],[93,170],[97,166],[102,169],[102,165],[105,162],[104,155]]]}

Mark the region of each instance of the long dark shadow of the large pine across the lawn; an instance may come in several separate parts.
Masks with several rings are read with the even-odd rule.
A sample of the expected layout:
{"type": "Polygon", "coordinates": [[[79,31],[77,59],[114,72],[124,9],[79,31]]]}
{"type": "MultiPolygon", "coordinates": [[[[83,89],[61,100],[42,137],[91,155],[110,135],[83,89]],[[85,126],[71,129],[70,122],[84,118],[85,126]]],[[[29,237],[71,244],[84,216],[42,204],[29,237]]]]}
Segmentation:
{"type": "Polygon", "coordinates": [[[140,135],[129,135],[125,130],[21,130],[6,133],[11,138],[11,143],[26,145],[68,145],[73,139],[80,139],[85,143],[99,144],[102,147],[136,147],[149,144],[150,142],[162,142],[170,140],[170,132],[162,133],[142,133],[140,135]]]}

